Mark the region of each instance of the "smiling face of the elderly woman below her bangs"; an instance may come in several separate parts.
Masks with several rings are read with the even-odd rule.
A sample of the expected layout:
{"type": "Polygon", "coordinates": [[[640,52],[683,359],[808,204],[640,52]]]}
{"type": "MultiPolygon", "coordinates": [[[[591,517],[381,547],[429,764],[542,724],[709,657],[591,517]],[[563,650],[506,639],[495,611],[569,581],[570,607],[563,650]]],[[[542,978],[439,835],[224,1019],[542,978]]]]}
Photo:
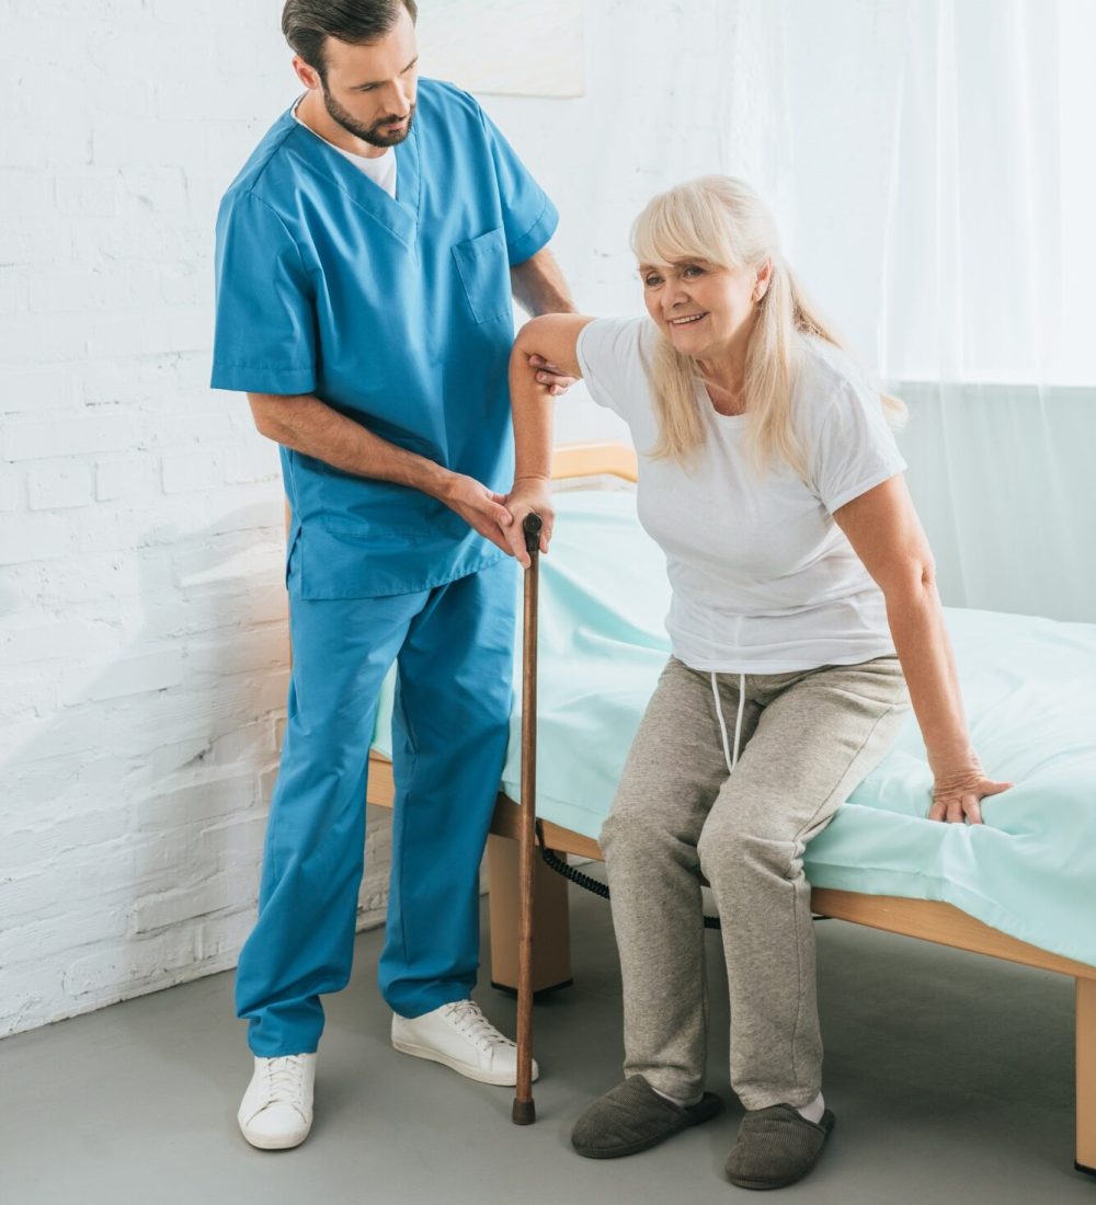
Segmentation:
{"type": "Polygon", "coordinates": [[[749,337],[763,290],[757,269],[685,259],[640,264],[639,276],[647,313],[679,352],[707,360],[749,337]]]}

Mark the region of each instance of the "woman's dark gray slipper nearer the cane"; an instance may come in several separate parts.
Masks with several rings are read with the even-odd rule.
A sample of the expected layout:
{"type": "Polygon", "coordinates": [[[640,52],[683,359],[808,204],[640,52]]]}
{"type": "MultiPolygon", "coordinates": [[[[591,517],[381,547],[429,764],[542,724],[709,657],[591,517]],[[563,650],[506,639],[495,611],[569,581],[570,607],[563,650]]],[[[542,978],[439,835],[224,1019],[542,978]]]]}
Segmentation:
{"type": "Polygon", "coordinates": [[[570,1140],[587,1159],[616,1159],[657,1146],[690,1125],[715,1117],[722,1109],[722,1100],[711,1092],[705,1092],[694,1105],[675,1105],[660,1097],[641,1075],[629,1075],[586,1109],[575,1122],[570,1140]]]}

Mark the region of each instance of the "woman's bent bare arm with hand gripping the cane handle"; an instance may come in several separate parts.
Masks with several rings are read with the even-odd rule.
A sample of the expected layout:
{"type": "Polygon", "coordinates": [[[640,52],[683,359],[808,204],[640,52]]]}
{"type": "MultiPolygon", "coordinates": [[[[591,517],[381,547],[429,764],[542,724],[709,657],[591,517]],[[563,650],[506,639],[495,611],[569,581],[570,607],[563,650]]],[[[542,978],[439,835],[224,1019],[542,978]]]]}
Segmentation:
{"type": "Polygon", "coordinates": [[[510,406],[514,421],[514,486],[506,495],[506,509],[514,522],[504,534],[510,551],[528,568],[522,521],[537,511],[544,527],[540,551],[547,552],[552,537],[555,512],[551,504],[552,476],[552,393],[537,382],[537,368],[529,357],[537,355],[567,376],[579,377],[575,348],[579,331],[592,318],[576,313],[549,313],[527,322],[518,331],[510,353],[510,406]]]}

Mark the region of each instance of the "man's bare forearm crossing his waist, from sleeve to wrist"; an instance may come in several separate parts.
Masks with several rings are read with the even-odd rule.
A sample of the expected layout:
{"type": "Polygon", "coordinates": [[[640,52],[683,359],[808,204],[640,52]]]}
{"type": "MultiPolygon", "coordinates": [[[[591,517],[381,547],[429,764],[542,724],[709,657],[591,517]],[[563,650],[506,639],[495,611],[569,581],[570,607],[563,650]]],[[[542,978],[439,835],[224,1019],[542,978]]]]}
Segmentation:
{"type": "Polygon", "coordinates": [[[247,400],[263,435],[344,472],[392,481],[441,499],[452,482],[453,474],[440,464],[382,440],[315,394],[250,393],[247,400]]]}

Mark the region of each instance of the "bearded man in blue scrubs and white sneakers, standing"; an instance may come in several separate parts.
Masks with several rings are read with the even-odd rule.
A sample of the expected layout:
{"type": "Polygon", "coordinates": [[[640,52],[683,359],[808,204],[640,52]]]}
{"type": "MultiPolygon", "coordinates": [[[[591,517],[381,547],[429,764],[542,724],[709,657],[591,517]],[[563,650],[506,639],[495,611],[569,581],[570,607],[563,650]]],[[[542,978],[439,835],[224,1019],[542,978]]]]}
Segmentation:
{"type": "Polygon", "coordinates": [[[320,997],[350,978],[393,662],[392,1044],[516,1078],[514,1042],[470,999],[510,713],[511,293],[534,315],[573,306],[546,249],[551,201],[467,93],[418,77],[415,17],[412,0],[288,0],[307,90],[217,222],[212,384],[245,392],[281,446],[292,511],[288,727],[236,975],[254,1054],[239,1123],[264,1150],[311,1127],[320,997]]]}

